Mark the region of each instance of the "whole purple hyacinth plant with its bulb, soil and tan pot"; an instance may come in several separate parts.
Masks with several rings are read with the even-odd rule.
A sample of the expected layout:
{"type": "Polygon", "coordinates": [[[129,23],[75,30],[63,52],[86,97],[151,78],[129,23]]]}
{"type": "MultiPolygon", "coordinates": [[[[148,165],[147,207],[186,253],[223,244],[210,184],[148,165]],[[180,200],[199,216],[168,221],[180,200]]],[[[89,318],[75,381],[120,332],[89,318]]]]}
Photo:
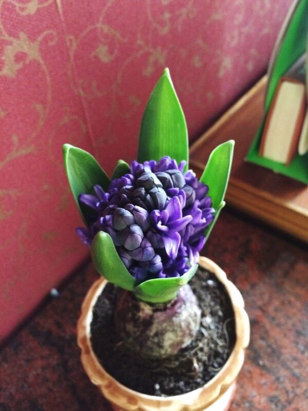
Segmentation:
{"type": "Polygon", "coordinates": [[[102,275],[78,323],[82,362],[115,410],[225,410],[249,340],[242,297],[199,257],[224,206],[233,141],[197,179],[168,69],[144,111],[137,160],[109,178],[64,145],[77,233],[102,275]],[[197,274],[196,274],[197,273],[197,274]],[[196,275],[195,275],[196,274],[196,275]]]}

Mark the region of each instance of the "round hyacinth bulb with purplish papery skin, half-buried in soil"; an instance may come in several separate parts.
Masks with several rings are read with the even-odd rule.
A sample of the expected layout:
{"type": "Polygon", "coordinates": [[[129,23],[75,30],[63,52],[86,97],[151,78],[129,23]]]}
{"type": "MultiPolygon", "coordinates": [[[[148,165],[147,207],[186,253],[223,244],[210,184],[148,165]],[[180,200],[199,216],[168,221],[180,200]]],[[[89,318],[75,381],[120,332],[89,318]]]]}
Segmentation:
{"type": "Polygon", "coordinates": [[[175,356],[188,346],[196,337],[200,319],[201,309],[188,284],[167,304],[150,305],[123,290],[114,314],[120,341],[152,360],[175,356]]]}

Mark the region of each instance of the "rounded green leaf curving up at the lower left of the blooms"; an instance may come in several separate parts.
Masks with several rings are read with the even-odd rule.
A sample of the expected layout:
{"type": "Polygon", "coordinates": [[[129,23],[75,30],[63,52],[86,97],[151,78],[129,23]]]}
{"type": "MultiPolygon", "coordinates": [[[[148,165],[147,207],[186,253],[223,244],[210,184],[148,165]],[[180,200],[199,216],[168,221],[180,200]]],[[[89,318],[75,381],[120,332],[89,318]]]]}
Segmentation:
{"type": "Polygon", "coordinates": [[[95,235],[91,244],[91,256],[95,268],[110,283],[132,291],[135,279],[127,271],[108,233],[99,231],[95,235]]]}

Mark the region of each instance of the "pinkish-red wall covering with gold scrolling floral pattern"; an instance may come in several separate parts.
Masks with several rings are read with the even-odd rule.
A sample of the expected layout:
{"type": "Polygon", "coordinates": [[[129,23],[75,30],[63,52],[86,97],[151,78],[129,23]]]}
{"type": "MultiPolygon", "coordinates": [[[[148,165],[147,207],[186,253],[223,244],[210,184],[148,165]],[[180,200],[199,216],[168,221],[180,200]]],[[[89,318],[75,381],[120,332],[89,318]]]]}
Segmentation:
{"type": "Polygon", "coordinates": [[[290,4],[0,0],[0,339],[87,255],[62,144],[130,161],[165,66],[194,139],[264,72],[290,4]]]}

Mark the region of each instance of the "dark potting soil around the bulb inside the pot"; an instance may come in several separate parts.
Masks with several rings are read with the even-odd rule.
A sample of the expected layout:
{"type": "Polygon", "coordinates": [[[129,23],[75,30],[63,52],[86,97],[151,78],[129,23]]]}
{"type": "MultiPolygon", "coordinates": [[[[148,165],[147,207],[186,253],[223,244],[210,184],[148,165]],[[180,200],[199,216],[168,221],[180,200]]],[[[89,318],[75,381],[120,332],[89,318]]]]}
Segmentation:
{"type": "Polygon", "coordinates": [[[156,361],[140,358],[119,341],[113,309],[119,289],[108,284],[93,308],[91,343],[106,371],[128,388],[156,396],[171,396],[199,388],[213,378],[235,344],[230,298],[214,274],[199,268],[189,283],[202,310],[194,341],[175,357],[156,361]]]}

